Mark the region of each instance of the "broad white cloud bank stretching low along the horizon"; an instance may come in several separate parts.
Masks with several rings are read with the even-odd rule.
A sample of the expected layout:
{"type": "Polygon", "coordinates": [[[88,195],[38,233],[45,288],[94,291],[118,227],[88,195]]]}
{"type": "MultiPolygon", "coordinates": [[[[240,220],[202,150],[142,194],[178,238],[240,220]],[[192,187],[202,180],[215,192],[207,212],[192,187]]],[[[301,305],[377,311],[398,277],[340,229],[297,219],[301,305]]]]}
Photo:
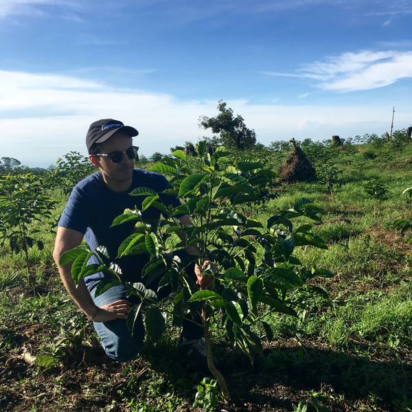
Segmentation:
{"type": "MultiPolygon", "coordinates": [[[[84,138],[97,119],[112,117],[139,130],[136,144],[146,156],[196,142],[209,130],[198,128],[198,117],[217,114],[216,100],[182,101],[172,95],[118,89],[82,78],[55,74],[0,72],[1,156],[30,166],[47,167],[70,150],[87,155],[84,138]]],[[[386,131],[391,104],[369,106],[251,105],[227,100],[235,114],[254,128],[258,140],[327,139],[386,131]]],[[[398,127],[409,126],[412,104],[397,109],[398,127]]]]}

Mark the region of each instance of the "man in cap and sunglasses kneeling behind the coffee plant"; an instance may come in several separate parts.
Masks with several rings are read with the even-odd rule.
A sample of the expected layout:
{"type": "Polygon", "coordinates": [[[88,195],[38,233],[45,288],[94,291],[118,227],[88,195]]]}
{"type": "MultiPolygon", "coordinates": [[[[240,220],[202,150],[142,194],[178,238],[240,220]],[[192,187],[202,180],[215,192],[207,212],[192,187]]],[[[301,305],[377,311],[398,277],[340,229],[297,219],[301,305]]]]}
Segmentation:
{"type": "MultiPolygon", "coordinates": [[[[133,223],[111,227],[113,220],[123,214],[124,209],[140,209],[144,196],[130,196],[136,187],[150,187],[159,194],[168,186],[161,174],[135,169],[137,149],[133,139],[137,130],[124,126],[114,119],[102,119],[91,124],[86,137],[87,150],[91,163],[100,172],[82,180],[69,198],[65,211],[58,224],[53,257],[58,266],[65,288],[80,306],[98,332],[106,354],[117,361],[130,361],[135,358],[144,344],[144,325],[137,321],[133,336],[126,327],[127,314],[134,302],[126,299],[126,288],[114,286],[102,295],[95,297],[95,287],[107,276],[96,273],[82,279],[78,286],[71,279],[71,264],[60,266],[62,253],[77,247],[82,239],[92,249],[104,245],[111,261],[122,268],[124,280],[139,282],[141,270],[148,262],[148,253],[133,255],[116,260],[117,249],[133,231],[133,223]]],[[[165,204],[177,206],[178,198],[160,194],[165,204]]],[[[160,211],[149,207],[142,212],[143,218],[159,220],[160,211]]],[[[189,216],[181,216],[184,225],[192,225],[189,216]]],[[[187,251],[194,255],[196,249],[187,251]]],[[[183,251],[184,253],[184,251],[183,251]]],[[[95,262],[93,262],[95,263],[95,262]]],[[[205,265],[211,262],[206,261],[205,265]]],[[[193,276],[202,289],[211,286],[213,277],[202,276],[196,266],[193,276]]],[[[207,367],[203,330],[192,321],[183,320],[183,332],[179,345],[185,349],[201,369],[207,367]]]]}

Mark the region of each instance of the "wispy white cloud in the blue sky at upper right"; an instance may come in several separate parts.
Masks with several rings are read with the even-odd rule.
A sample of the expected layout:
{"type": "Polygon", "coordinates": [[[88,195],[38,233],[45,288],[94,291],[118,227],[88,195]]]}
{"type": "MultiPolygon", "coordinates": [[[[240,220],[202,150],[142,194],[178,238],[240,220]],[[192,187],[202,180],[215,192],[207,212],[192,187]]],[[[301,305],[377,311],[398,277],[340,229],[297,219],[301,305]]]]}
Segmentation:
{"type": "Polygon", "coordinates": [[[308,78],[317,87],[334,91],[359,91],[388,86],[402,78],[412,78],[412,52],[347,52],[314,62],[296,73],[264,72],[270,76],[308,78]]]}

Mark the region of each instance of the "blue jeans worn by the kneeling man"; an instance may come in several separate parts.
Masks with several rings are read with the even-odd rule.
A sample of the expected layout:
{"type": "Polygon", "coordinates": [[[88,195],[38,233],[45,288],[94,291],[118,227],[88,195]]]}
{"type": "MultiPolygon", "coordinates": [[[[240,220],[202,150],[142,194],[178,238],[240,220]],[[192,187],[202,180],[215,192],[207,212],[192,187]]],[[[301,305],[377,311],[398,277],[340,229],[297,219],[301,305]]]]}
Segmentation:
{"type": "MultiPolygon", "coordinates": [[[[194,271],[188,271],[190,277],[196,275],[194,271]]],[[[159,282],[159,281],[158,281],[159,282]]],[[[148,288],[156,290],[150,284],[148,288]]],[[[95,297],[95,288],[91,290],[91,297],[93,298],[96,306],[102,307],[104,305],[110,304],[120,299],[126,299],[130,301],[132,306],[138,303],[137,298],[130,296],[126,298],[127,289],[122,286],[113,286],[112,288],[106,290],[102,295],[95,297]]],[[[195,319],[197,323],[201,323],[201,319],[195,319]]],[[[141,318],[141,313],[135,322],[135,330],[133,335],[130,334],[126,325],[126,319],[114,319],[108,322],[93,322],[95,331],[98,332],[100,339],[102,340],[102,345],[106,354],[115,359],[115,361],[126,362],[131,361],[137,357],[144,345],[144,324],[141,318]]],[[[185,339],[191,341],[192,339],[200,339],[204,336],[203,329],[189,321],[183,319],[183,336],[185,339]]]]}

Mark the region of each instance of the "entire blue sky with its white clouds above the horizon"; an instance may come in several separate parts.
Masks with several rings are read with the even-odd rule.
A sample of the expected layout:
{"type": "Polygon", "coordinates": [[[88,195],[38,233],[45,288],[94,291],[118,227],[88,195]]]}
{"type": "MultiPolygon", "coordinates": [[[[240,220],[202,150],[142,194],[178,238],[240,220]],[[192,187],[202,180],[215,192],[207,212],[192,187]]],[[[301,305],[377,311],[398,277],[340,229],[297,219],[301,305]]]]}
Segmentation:
{"type": "Polygon", "coordinates": [[[87,155],[106,117],[168,153],[220,99],[266,145],[408,127],[411,27],[411,0],[0,0],[0,157],[87,155]]]}

